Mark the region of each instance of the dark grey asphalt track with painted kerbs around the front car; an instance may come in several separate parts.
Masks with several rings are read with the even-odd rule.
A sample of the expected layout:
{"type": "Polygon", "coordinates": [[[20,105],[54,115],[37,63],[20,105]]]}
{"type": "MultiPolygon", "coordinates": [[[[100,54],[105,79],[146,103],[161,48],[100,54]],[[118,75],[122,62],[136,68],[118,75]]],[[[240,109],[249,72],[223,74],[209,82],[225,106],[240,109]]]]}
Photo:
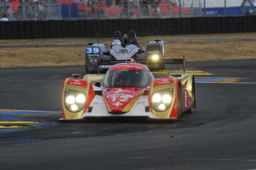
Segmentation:
{"type": "Polygon", "coordinates": [[[256,169],[256,61],[187,69],[212,74],[196,76],[192,114],[87,123],[57,121],[62,83],[83,67],[1,69],[0,169],[256,169]]]}

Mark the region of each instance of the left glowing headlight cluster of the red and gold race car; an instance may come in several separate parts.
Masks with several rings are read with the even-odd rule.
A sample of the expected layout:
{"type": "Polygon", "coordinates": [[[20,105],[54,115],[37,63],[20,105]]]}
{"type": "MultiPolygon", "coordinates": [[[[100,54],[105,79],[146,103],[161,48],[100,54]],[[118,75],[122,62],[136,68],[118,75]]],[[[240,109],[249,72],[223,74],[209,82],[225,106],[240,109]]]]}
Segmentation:
{"type": "Polygon", "coordinates": [[[65,91],[65,107],[70,112],[79,112],[85,108],[86,98],[84,92],[79,92],[73,89],[65,91]]]}

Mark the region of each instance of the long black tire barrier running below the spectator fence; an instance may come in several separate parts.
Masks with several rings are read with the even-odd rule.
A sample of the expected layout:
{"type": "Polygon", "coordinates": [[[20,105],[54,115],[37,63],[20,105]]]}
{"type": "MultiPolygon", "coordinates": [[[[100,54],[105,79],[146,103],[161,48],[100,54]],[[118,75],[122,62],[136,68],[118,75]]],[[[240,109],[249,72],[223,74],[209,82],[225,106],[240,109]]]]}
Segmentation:
{"type": "Polygon", "coordinates": [[[253,33],[256,16],[1,21],[0,39],[111,37],[116,30],[137,35],[253,33]]]}

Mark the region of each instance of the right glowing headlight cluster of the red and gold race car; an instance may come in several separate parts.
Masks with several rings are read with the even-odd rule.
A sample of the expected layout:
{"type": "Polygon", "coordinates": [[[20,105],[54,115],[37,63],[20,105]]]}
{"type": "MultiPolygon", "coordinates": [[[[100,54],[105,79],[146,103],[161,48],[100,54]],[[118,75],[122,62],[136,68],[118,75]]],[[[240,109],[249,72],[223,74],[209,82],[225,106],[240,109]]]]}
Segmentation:
{"type": "Polygon", "coordinates": [[[154,92],[151,97],[152,107],[156,111],[165,111],[171,106],[172,89],[164,89],[154,92]]]}

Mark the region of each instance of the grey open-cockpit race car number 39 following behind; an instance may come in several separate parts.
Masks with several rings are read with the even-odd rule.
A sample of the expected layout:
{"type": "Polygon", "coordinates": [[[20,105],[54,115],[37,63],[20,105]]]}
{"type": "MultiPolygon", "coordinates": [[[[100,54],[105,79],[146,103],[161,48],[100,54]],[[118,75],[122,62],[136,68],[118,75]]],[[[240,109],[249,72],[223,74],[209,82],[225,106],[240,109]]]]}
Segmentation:
{"type": "MultiPolygon", "coordinates": [[[[140,47],[137,35],[134,30],[122,35],[119,31],[114,33],[114,40],[111,44],[88,43],[85,48],[85,70],[87,73],[95,73],[98,70],[108,70],[110,66],[101,65],[97,67],[99,60],[116,61],[126,59],[157,61],[164,59],[164,42],[161,40],[150,41],[146,47],[140,47]]],[[[152,65],[153,68],[153,65],[152,65]]],[[[154,68],[164,69],[164,65],[154,65],[154,68]]]]}

